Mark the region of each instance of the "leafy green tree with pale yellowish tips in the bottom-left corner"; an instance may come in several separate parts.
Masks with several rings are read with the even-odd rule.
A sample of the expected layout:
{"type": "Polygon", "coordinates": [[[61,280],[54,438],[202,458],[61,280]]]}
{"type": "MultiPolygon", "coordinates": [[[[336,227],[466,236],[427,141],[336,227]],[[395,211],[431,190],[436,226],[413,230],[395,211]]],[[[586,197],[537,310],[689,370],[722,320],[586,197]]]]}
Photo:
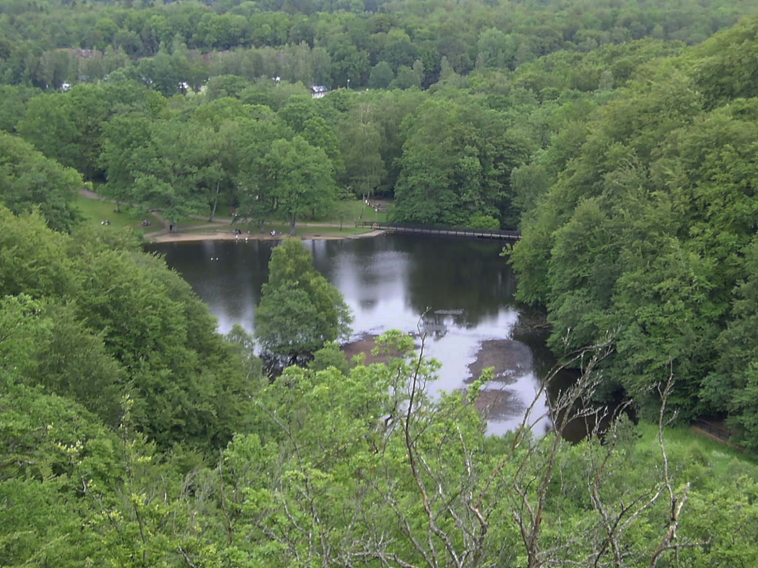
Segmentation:
{"type": "Polygon", "coordinates": [[[95,530],[94,492],[113,495],[123,472],[117,438],[80,404],[42,389],[0,386],[0,556],[10,566],[108,563],[95,530]],[[92,492],[92,493],[90,493],[92,492]]]}

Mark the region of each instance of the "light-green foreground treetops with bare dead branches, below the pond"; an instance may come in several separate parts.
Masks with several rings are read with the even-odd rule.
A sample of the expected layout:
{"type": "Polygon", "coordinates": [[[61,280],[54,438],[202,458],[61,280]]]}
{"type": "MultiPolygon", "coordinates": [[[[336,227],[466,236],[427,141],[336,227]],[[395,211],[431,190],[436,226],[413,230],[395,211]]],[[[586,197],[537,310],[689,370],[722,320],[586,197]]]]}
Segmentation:
{"type": "MultiPolygon", "coordinates": [[[[526,418],[496,437],[484,435],[472,404],[491,376],[468,392],[432,397],[424,384],[438,364],[413,344],[389,332],[377,339],[377,351],[396,354],[386,364],[346,375],[290,367],[262,385],[269,429],[236,437],[224,452],[224,506],[239,513],[227,523],[235,550],[281,566],[311,554],[329,565],[434,558],[465,568],[647,566],[651,557],[707,554],[708,535],[697,538],[706,520],[697,531],[680,527],[696,491],[688,481],[703,475],[693,461],[707,459],[675,456],[662,430],[637,444],[628,423],[612,423],[604,443],[562,439],[562,410],[593,388],[602,348],[577,354],[586,372],[553,401],[556,432],[538,437],[526,418]]],[[[752,528],[754,513],[744,505],[739,513],[752,528]]],[[[731,548],[728,534],[719,535],[719,557],[746,544],[740,538],[731,548]]]]}

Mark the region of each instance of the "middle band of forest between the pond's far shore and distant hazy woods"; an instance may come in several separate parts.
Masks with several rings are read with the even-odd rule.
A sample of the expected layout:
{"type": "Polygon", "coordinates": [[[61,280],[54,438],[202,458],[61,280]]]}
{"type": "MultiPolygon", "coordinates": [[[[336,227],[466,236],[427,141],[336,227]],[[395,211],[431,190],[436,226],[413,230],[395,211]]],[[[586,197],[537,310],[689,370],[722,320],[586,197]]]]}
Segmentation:
{"type": "Polygon", "coordinates": [[[85,179],[107,181],[111,198],[169,220],[212,216],[219,199],[246,219],[293,220],[333,211],[340,195],[378,194],[396,198],[396,221],[512,229],[531,207],[527,186],[540,183],[512,183],[514,168],[615,96],[642,62],[682,48],[643,39],[559,51],[513,72],[447,67],[427,91],[318,99],[302,83],[235,74],[171,98],[124,74],[65,92],[4,86],[0,122],[85,179]],[[277,172],[295,156],[285,183],[277,172]],[[297,184],[291,193],[309,195],[288,201],[285,186],[297,184]]]}

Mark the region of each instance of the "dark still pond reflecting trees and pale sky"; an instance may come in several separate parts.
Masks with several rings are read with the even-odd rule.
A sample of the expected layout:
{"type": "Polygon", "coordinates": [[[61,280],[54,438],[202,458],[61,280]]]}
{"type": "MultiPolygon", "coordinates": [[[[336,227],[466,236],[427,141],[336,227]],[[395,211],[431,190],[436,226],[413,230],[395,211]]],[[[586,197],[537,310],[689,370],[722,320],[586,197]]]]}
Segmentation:
{"type": "MultiPolygon", "coordinates": [[[[163,254],[218,318],[253,330],[255,306],[268,277],[272,241],[203,241],[148,245],[163,254]]],[[[497,379],[481,404],[488,430],[517,426],[555,359],[539,338],[513,338],[518,307],[515,278],[502,243],[476,239],[384,235],[368,239],[304,241],[315,267],[343,293],[359,340],[387,329],[427,334],[425,352],[442,364],[428,387],[453,391],[496,364],[497,379]],[[422,319],[421,316],[426,314],[422,319]],[[471,368],[469,368],[471,367],[471,368]]],[[[547,410],[540,400],[534,410],[547,410]]],[[[545,420],[538,429],[550,428],[545,420]]]]}

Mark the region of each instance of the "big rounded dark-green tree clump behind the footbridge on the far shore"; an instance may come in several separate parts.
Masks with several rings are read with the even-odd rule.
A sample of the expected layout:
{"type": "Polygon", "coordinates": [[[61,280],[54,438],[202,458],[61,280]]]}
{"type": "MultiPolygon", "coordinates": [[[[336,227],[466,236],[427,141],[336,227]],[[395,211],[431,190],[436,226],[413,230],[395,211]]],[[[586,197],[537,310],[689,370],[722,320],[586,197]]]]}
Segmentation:
{"type": "Polygon", "coordinates": [[[515,226],[509,176],[534,147],[531,136],[468,97],[426,101],[402,127],[393,219],[465,226],[484,215],[515,226]]]}

